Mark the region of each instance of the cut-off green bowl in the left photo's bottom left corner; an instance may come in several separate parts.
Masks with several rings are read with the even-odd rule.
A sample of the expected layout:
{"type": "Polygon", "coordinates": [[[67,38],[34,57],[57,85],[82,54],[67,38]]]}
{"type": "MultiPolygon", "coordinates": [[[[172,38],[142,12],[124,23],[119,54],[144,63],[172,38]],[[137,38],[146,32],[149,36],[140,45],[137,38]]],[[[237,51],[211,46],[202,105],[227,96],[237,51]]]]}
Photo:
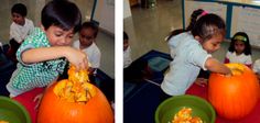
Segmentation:
{"type": "Polygon", "coordinates": [[[9,123],[31,123],[30,115],[22,104],[0,96],[0,121],[9,123]]]}

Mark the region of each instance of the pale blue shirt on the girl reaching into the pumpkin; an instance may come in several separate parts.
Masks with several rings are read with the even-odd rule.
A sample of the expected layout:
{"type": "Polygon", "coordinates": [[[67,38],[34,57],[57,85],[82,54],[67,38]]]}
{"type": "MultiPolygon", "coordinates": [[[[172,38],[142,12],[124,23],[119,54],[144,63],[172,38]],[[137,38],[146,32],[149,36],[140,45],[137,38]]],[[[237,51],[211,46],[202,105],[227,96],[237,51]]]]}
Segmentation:
{"type": "Polygon", "coordinates": [[[162,90],[170,96],[184,94],[197,78],[205,62],[212,57],[191,33],[182,33],[169,41],[173,62],[161,85],[162,90]]]}

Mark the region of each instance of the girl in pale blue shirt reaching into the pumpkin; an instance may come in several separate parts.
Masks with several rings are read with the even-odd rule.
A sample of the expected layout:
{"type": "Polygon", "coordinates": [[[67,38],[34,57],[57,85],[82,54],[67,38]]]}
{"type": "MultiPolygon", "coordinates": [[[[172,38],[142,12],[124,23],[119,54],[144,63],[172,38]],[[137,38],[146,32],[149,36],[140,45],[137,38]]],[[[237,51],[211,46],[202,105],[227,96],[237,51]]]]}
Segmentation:
{"type": "MultiPolygon", "coordinates": [[[[196,15],[197,16],[197,15],[196,15]]],[[[213,72],[231,75],[231,70],[212,57],[212,53],[220,47],[225,37],[225,22],[216,14],[204,14],[194,20],[192,26],[172,32],[169,45],[172,51],[173,62],[161,85],[163,90],[161,100],[171,96],[185,94],[203,68],[213,72]],[[189,32],[191,31],[191,32],[189,32]],[[181,33],[181,34],[180,34],[181,33]]]]}

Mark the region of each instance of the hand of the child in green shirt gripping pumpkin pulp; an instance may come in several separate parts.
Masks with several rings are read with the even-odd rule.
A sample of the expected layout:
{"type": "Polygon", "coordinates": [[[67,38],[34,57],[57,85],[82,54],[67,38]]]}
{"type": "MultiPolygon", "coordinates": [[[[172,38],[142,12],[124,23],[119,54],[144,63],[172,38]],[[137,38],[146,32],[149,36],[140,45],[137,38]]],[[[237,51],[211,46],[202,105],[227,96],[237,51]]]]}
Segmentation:
{"type": "Polygon", "coordinates": [[[67,51],[66,58],[68,59],[69,63],[75,65],[76,70],[88,68],[87,55],[79,49],[69,48],[67,51]]]}

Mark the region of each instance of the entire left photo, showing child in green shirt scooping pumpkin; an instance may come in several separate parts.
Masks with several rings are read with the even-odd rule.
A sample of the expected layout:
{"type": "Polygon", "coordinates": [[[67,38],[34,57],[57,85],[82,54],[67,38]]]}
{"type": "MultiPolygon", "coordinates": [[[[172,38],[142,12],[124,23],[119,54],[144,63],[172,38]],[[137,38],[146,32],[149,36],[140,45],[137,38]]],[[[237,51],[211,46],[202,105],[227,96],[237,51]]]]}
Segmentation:
{"type": "Polygon", "coordinates": [[[0,123],[115,123],[115,0],[2,0],[0,123]]]}

